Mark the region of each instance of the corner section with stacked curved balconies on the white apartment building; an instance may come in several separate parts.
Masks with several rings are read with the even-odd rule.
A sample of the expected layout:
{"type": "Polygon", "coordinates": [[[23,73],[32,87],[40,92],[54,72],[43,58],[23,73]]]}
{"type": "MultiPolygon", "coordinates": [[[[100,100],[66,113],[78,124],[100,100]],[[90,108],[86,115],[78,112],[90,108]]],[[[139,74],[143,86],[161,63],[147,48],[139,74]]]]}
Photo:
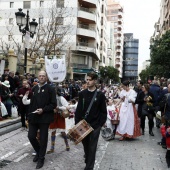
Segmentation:
{"type": "Polygon", "coordinates": [[[74,79],[84,78],[89,71],[98,71],[99,60],[102,60],[100,49],[104,49],[104,44],[100,47],[101,9],[104,2],[98,0],[77,1],[77,29],[76,35],[73,37],[75,43],[71,46],[71,66],[74,79]]]}

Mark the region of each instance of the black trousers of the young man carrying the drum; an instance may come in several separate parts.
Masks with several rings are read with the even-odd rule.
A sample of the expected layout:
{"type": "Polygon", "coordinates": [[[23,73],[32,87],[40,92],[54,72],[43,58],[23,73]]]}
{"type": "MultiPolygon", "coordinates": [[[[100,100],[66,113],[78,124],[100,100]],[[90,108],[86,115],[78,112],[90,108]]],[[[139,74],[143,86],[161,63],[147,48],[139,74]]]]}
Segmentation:
{"type": "Polygon", "coordinates": [[[94,168],[100,129],[101,127],[94,129],[94,131],[92,131],[86,138],[82,140],[84,146],[84,152],[86,155],[85,158],[86,167],[84,170],[93,170],[94,168]]]}

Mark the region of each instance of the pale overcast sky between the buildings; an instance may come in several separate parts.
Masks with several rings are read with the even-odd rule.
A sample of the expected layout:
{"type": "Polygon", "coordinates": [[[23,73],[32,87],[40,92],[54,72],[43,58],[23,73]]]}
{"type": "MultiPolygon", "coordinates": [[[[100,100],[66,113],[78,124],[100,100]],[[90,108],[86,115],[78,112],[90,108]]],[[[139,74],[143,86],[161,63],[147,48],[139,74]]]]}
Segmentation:
{"type": "Polygon", "coordinates": [[[139,39],[139,72],[142,63],[150,59],[150,37],[160,16],[161,0],[119,0],[124,7],[124,33],[139,39]]]}

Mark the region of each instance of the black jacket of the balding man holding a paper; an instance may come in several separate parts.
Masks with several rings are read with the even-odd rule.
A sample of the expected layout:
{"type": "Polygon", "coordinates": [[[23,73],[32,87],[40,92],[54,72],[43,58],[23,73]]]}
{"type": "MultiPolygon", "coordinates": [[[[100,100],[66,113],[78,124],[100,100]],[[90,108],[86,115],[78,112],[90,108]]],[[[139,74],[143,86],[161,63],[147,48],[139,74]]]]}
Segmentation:
{"type": "Polygon", "coordinates": [[[29,114],[42,108],[43,113],[30,114],[28,119],[30,123],[51,123],[54,121],[54,108],[56,107],[56,92],[53,87],[45,84],[41,88],[36,85],[32,89],[33,96],[29,106],[29,114]]]}

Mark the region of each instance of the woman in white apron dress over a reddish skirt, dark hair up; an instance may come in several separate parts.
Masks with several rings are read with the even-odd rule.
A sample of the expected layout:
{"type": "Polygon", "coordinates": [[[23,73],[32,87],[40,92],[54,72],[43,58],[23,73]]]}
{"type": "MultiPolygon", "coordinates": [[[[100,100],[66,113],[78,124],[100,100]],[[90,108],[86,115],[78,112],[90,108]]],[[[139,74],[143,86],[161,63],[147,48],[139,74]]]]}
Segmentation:
{"type": "Polygon", "coordinates": [[[117,134],[121,136],[120,141],[125,138],[135,138],[141,135],[140,121],[134,103],[136,92],[129,88],[129,81],[123,82],[123,90],[120,93],[122,104],[120,107],[120,123],[117,127],[117,134]]]}

